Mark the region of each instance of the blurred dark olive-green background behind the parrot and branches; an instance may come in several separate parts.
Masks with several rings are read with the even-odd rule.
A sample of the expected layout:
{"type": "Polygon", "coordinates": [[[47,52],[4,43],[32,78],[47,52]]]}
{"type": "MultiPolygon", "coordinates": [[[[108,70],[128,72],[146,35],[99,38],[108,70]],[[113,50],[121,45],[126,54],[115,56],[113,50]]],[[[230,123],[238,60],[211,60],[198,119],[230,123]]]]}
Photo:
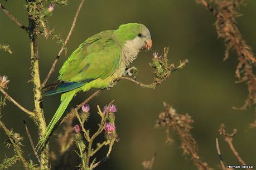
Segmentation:
{"type": "MultiPolygon", "coordinates": [[[[13,16],[27,25],[24,1],[0,1],[13,16]]],[[[50,27],[55,28],[63,38],[73,22],[76,8],[80,1],[70,1],[68,6],[55,7],[54,16],[49,19],[50,27]]],[[[238,26],[247,43],[256,51],[256,1],[245,1],[241,7],[244,15],[238,18],[238,26]]],[[[163,101],[170,103],[178,113],[189,113],[194,119],[192,135],[199,146],[199,154],[211,168],[219,169],[219,157],[215,149],[215,138],[219,138],[221,151],[226,164],[238,164],[228,145],[219,136],[218,129],[225,123],[227,129],[238,129],[234,146],[240,156],[248,164],[256,166],[255,129],[249,129],[248,124],[255,119],[254,109],[246,111],[232,109],[243,105],[247,97],[244,84],[235,84],[235,68],[238,63],[236,54],[223,62],[224,42],[218,39],[214,27],[215,18],[204,7],[195,1],[118,1],[96,0],[85,1],[78,22],[69,43],[67,56],[87,37],[107,29],[116,29],[120,24],[138,22],[146,25],[151,31],[153,50],[141,52],[132,64],[138,68],[137,79],[151,82],[153,73],[148,63],[151,62],[153,51],[162,53],[163,47],[170,47],[170,61],[177,64],[180,59],[189,59],[190,63],[181,71],[171,75],[167,81],[156,89],[138,87],[128,81],[120,81],[109,91],[90,101],[90,127],[95,127],[99,117],[96,114],[96,104],[104,106],[113,99],[118,106],[117,132],[120,141],[115,144],[110,158],[98,169],[143,169],[141,162],[151,159],[157,152],[153,169],[197,169],[194,163],[182,156],[180,139],[172,133],[175,142],[165,144],[163,129],[154,129],[158,114],[163,111],[163,101]],[[93,126],[94,125],[94,126],[93,126]]],[[[7,16],[0,12],[0,44],[9,44],[13,54],[0,52],[0,74],[11,80],[8,93],[28,109],[33,108],[32,84],[30,73],[30,48],[28,36],[18,28],[7,16]]],[[[41,38],[39,43],[41,79],[49,71],[60,44],[41,38]]],[[[66,57],[62,55],[57,69],[50,82],[55,81],[58,70],[66,57]]],[[[89,92],[91,93],[91,92],[89,92]]],[[[70,106],[83,101],[89,93],[80,93],[70,106]]],[[[45,118],[49,122],[59,106],[60,96],[44,98],[45,118]]],[[[70,110],[70,108],[68,109],[70,110]]],[[[3,108],[2,120],[9,128],[15,129],[26,137],[22,120],[25,119],[36,142],[37,131],[33,122],[12,103],[3,108]]],[[[0,131],[0,160],[11,157],[13,151],[3,144],[7,139],[0,131]]],[[[50,139],[51,148],[57,149],[55,137],[50,139]]],[[[28,139],[23,141],[27,158],[34,161],[28,139]]],[[[104,154],[102,152],[102,154],[104,154]]],[[[103,156],[103,155],[102,155],[103,156]]],[[[74,163],[78,158],[74,157],[74,163]]],[[[22,169],[14,166],[12,169],[22,169]]]]}

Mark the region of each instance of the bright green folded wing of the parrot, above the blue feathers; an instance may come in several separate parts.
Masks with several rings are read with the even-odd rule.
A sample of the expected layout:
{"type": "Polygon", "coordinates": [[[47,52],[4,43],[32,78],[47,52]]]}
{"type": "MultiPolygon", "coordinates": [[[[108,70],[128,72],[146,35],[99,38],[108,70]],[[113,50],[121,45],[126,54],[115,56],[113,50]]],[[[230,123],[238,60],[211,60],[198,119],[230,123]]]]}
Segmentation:
{"type": "Polygon", "coordinates": [[[113,31],[104,31],[86,39],[61,67],[59,79],[88,82],[112,75],[122,54],[112,35],[113,31]]]}

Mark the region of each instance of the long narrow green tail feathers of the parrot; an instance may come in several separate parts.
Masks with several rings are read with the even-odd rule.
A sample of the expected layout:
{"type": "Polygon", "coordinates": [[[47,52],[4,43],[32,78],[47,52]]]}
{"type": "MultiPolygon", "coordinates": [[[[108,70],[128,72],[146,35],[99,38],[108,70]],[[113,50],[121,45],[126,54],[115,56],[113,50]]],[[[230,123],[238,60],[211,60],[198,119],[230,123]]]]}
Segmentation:
{"type": "Polygon", "coordinates": [[[60,103],[59,108],[57,109],[56,113],[54,114],[54,117],[51,119],[50,124],[47,126],[47,129],[46,129],[44,135],[40,138],[40,140],[37,143],[37,146],[36,146],[37,152],[38,151],[40,152],[42,150],[42,148],[45,147],[45,144],[48,141],[52,131],[55,129],[57,122],[59,122],[59,119],[61,118],[65,109],[69,105],[69,102],[71,101],[71,99],[75,96],[75,94],[78,91],[79,91],[79,88],[62,94],[61,103],[60,103]]]}

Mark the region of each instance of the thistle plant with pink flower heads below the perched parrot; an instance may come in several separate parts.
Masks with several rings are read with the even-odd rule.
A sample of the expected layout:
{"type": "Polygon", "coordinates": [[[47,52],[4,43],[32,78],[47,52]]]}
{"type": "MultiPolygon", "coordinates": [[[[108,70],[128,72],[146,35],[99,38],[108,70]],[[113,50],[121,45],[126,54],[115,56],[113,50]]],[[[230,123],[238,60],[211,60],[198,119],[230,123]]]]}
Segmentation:
{"type": "Polygon", "coordinates": [[[76,152],[81,158],[79,168],[81,169],[94,169],[100,162],[107,159],[112,151],[114,142],[117,142],[117,133],[115,131],[115,112],[117,108],[114,104],[110,103],[104,107],[104,111],[98,107],[98,114],[101,117],[98,130],[90,135],[89,129],[86,129],[85,123],[88,121],[90,107],[88,104],[82,107],[82,111],[76,112],[76,117],[80,124],[74,126],[75,144],[79,152],[76,152]],[[94,140],[104,132],[105,141],[96,143],[96,148],[93,148],[94,140]],[[108,146],[108,152],[102,160],[97,160],[94,155],[100,151],[103,146],[108,146]],[[92,159],[92,160],[91,160],[92,159]]]}

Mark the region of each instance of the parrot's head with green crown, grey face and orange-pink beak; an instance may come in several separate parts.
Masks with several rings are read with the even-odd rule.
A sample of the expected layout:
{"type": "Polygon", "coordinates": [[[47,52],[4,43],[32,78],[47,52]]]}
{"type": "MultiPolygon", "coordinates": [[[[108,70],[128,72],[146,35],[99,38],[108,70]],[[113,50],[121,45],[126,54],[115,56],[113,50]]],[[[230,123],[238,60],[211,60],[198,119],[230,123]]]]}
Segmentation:
{"type": "Polygon", "coordinates": [[[115,35],[121,44],[128,46],[133,51],[149,50],[152,47],[150,32],[143,24],[123,24],[115,31],[115,35]]]}

